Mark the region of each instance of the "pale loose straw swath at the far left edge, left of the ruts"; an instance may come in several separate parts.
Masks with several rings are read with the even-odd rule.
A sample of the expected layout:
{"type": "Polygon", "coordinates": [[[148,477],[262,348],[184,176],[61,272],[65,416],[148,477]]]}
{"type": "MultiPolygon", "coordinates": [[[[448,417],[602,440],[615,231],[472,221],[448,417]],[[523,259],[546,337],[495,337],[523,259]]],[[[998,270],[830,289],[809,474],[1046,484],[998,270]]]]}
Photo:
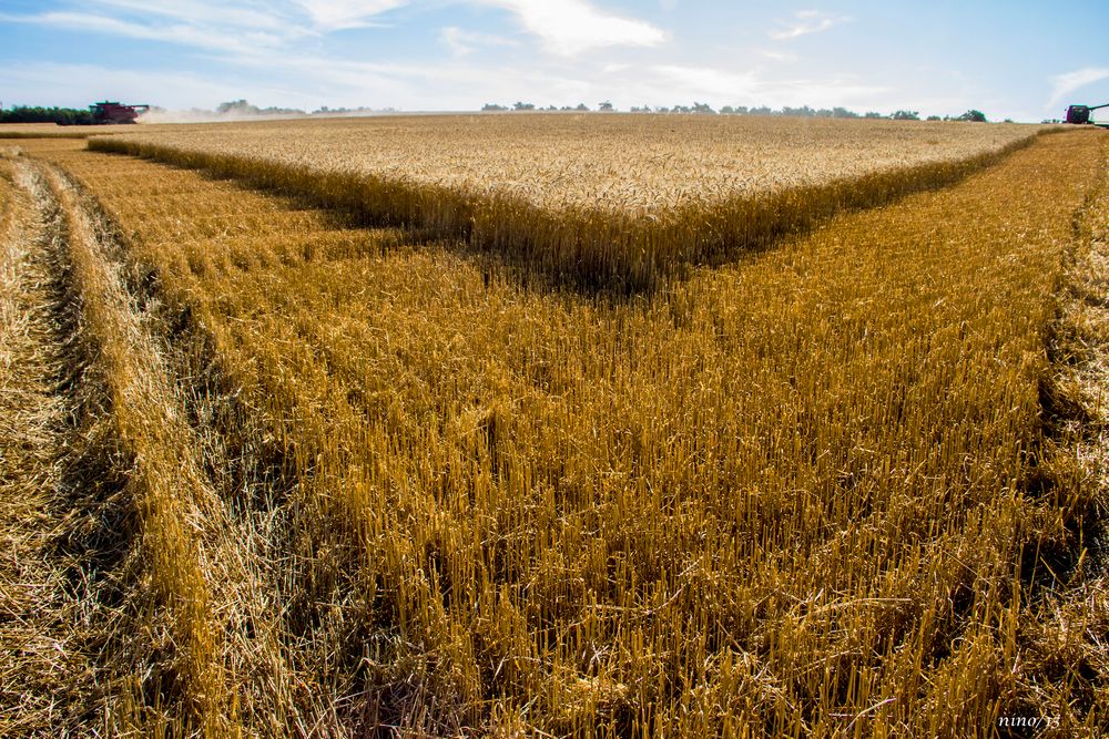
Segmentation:
{"type": "Polygon", "coordinates": [[[60,214],[32,193],[26,161],[0,158],[0,735],[69,736],[101,696],[85,625],[90,581],[58,543],[70,504],[77,399],[60,214]]]}

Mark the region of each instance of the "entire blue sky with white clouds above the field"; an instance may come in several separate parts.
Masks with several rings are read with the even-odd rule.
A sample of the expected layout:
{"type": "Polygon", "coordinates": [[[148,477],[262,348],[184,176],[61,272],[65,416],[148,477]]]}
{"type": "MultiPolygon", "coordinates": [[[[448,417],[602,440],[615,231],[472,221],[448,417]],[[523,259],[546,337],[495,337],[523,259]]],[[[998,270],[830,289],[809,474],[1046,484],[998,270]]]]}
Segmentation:
{"type": "Polygon", "coordinates": [[[1109,2],[1072,0],[0,0],[0,102],[699,101],[1039,121],[1109,102],[1107,33],[1109,2]]]}

